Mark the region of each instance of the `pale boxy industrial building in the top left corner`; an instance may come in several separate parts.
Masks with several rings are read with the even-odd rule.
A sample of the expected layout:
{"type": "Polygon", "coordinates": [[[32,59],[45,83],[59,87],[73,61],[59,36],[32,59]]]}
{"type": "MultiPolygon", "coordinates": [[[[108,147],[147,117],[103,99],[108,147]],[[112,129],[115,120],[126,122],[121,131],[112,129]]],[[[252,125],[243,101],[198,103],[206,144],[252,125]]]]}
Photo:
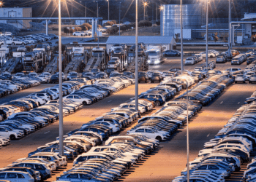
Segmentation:
{"type": "MultiPolygon", "coordinates": [[[[31,7],[0,8],[0,17],[31,17],[31,7]]],[[[31,20],[0,20],[0,23],[13,25],[15,28],[30,28],[31,20]]]]}

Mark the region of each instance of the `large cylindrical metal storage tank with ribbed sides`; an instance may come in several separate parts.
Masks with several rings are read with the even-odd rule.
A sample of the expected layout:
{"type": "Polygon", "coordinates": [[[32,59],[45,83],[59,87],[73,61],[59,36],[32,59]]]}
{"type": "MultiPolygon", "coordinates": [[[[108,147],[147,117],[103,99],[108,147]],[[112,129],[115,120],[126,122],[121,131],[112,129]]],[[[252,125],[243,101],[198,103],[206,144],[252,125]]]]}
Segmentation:
{"type": "MultiPolygon", "coordinates": [[[[182,5],[183,28],[200,28],[202,13],[201,4],[182,5]]],[[[181,29],[181,5],[162,5],[161,36],[174,36],[174,29],[181,29]]]]}

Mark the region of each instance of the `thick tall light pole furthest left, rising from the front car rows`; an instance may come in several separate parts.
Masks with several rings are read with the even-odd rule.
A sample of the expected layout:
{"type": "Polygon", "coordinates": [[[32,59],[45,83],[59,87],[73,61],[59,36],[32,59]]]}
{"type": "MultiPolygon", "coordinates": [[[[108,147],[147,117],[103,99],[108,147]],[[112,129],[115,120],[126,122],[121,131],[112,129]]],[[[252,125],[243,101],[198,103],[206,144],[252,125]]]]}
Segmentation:
{"type": "Polygon", "coordinates": [[[61,0],[59,0],[59,154],[64,154],[63,147],[63,100],[62,100],[62,58],[61,58],[61,0]]]}

